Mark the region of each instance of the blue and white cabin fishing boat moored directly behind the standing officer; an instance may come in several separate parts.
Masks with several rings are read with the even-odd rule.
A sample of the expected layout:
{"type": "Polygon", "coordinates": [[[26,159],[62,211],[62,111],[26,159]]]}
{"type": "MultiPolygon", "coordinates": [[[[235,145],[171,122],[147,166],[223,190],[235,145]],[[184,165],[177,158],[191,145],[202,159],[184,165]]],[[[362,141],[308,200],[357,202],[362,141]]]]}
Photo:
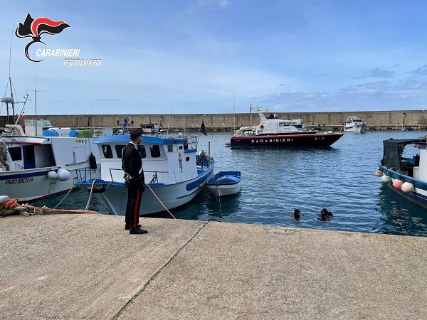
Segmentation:
{"type": "MultiPolygon", "coordinates": [[[[101,178],[93,179],[88,171],[81,171],[80,180],[76,183],[93,192],[115,215],[126,213],[127,188],[121,158],[122,149],[129,141],[127,134],[96,138],[101,157],[101,178]]],[[[139,215],[188,203],[203,190],[214,172],[214,159],[205,152],[197,154],[196,137],[142,135],[138,150],[146,181],[139,215]]]]}

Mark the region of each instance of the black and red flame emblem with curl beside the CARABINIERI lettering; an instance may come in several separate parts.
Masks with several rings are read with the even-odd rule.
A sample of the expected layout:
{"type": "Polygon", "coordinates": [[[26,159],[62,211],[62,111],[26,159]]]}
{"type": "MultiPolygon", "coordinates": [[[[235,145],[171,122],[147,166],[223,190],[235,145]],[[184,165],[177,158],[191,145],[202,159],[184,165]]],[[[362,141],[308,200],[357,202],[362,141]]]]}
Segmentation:
{"type": "Polygon", "coordinates": [[[28,43],[25,47],[26,57],[33,62],[41,62],[44,60],[34,60],[28,53],[28,49],[33,43],[43,43],[46,46],[46,43],[41,41],[41,35],[43,33],[48,34],[58,34],[61,33],[65,28],[70,28],[70,26],[65,23],[65,21],[53,21],[49,18],[36,18],[34,20],[31,18],[30,14],[27,14],[26,19],[23,23],[19,23],[18,28],[16,28],[15,34],[19,38],[31,37],[33,41],[28,43]]]}

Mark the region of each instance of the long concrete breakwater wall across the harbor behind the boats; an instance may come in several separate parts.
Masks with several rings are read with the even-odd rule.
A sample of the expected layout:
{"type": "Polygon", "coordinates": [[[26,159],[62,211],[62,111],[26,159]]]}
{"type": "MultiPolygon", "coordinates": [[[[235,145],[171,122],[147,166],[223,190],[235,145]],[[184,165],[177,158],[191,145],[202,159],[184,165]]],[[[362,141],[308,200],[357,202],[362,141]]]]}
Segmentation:
{"type": "MultiPolygon", "coordinates": [[[[396,130],[412,127],[427,129],[427,110],[398,110],[398,111],[362,111],[362,112],[265,112],[281,119],[302,119],[308,127],[320,129],[342,129],[342,125],[350,115],[356,114],[362,121],[367,122],[367,130],[396,130]]],[[[43,114],[37,117],[26,115],[26,119],[48,119],[55,127],[117,127],[125,117],[134,125],[157,123],[160,127],[170,130],[199,131],[204,120],[206,131],[233,131],[235,128],[257,125],[260,122],[256,113],[236,114],[75,114],[58,115],[43,114]]],[[[13,118],[13,117],[11,117],[13,118]]],[[[13,119],[9,119],[11,123],[13,119]]],[[[14,122],[14,121],[13,121],[14,122]]],[[[8,123],[6,116],[0,117],[0,125],[8,123]]]]}

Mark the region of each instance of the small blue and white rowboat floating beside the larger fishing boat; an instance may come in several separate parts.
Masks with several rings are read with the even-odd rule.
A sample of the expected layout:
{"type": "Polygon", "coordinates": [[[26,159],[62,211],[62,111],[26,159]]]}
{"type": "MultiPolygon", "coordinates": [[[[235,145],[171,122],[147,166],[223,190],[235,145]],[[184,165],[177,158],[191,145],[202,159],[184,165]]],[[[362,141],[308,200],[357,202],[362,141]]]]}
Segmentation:
{"type": "Polygon", "coordinates": [[[214,196],[229,196],[241,191],[241,171],[219,171],[208,180],[206,186],[214,196]]]}

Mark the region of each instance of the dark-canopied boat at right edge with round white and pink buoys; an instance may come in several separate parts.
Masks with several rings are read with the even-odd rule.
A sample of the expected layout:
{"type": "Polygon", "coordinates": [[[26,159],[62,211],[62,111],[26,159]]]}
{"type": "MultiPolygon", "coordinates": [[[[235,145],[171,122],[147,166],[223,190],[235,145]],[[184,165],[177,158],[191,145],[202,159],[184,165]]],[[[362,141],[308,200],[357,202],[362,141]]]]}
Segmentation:
{"type": "Polygon", "coordinates": [[[381,176],[381,181],[400,196],[427,208],[426,137],[388,139],[383,144],[377,176],[381,176]]]}

